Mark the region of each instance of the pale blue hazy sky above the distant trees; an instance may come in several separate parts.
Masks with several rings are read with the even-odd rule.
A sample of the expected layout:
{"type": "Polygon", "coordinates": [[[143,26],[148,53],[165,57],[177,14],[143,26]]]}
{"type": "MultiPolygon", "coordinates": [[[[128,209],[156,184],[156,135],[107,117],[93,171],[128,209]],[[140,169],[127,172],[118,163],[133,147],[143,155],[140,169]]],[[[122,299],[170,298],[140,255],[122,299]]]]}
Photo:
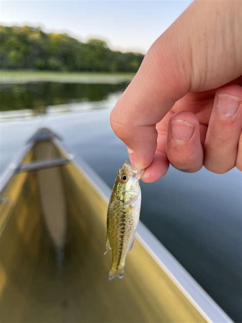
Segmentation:
{"type": "Polygon", "coordinates": [[[1,25],[41,26],[81,41],[107,40],[112,49],[145,53],[191,1],[0,0],[1,25]]]}

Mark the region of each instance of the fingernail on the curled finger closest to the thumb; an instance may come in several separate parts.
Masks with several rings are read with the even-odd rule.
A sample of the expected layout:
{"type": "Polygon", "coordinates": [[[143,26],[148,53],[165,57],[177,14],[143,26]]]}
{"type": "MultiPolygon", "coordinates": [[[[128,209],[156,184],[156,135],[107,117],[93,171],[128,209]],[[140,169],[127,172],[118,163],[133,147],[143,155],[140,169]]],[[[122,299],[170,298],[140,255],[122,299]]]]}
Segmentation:
{"type": "Polygon", "coordinates": [[[195,125],[187,121],[174,120],[171,122],[172,139],[180,143],[185,143],[191,139],[194,129],[195,125]]]}

